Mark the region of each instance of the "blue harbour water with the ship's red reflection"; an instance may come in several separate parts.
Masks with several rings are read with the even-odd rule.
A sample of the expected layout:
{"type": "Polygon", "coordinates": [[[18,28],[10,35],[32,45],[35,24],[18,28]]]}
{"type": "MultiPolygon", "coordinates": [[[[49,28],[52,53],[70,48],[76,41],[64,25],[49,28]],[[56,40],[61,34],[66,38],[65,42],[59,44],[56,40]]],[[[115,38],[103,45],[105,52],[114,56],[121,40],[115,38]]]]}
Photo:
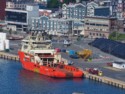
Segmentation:
{"type": "Polygon", "coordinates": [[[125,94],[125,90],[88,79],[54,79],[0,59],[0,94],[125,94]]]}

